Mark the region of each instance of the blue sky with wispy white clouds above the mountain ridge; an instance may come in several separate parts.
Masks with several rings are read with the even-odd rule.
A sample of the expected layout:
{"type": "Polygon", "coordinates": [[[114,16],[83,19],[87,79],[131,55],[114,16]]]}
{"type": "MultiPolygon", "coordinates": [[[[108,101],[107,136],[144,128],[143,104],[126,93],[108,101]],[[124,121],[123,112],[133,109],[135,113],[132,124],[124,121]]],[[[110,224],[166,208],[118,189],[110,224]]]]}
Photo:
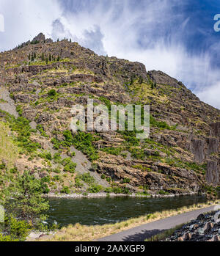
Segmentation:
{"type": "Polygon", "coordinates": [[[161,70],[220,109],[216,14],[220,0],[0,0],[0,51],[40,32],[71,38],[97,54],[161,70]]]}

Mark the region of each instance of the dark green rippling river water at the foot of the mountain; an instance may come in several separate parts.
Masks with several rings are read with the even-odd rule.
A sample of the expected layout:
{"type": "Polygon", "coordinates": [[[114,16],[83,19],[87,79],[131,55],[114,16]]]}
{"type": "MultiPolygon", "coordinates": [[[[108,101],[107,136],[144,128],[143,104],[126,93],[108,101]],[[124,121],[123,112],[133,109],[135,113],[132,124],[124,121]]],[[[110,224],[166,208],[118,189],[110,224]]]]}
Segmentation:
{"type": "Polygon", "coordinates": [[[94,199],[50,199],[48,222],[67,224],[108,224],[142,216],[155,211],[176,209],[206,202],[206,197],[169,198],[111,197],[94,199]]]}

